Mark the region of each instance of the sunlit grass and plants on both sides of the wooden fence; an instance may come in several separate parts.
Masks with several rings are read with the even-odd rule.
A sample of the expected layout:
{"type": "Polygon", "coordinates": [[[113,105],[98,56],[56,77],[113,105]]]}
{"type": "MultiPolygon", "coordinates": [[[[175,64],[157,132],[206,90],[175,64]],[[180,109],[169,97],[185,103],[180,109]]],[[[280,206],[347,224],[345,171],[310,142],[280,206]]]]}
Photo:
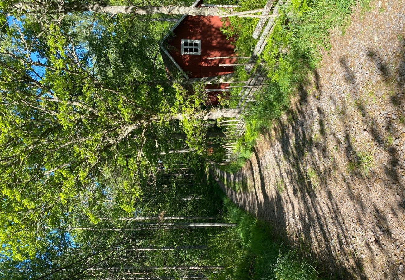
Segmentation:
{"type": "MultiPolygon", "coordinates": [[[[258,63],[264,63],[270,71],[266,86],[256,97],[256,104],[247,111],[247,134],[250,134],[247,138],[271,129],[288,111],[292,97],[299,87],[307,83],[322,59],[322,51],[330,47],[330,30],[340,28],[344,32],[350,23],[352,7],[358,2],[364,7],[369,3],[368,0],[292,0],[288,7],[280,11],[273,33],[258,59],[258,63]]],[[[241,3],[241,10],[252,10],[262,8],[266,1],[230,4],[241,3]]],[[[257,42],[252,38],[257,21],[258,19],[231,17],[232,29],[224,28],[229,36],[237,35],[235,50],[238,55],[251,55],[257,42]]],[[[234,76],[239,81],[245,81],[249,74],[238,66],[234,76]]],[[[231,91],[231,95],[238,93],[239,89],[231,91]]],[[[316,92],[313,94],[317,95],[316,92]]],[[[229,103],[228,106],[236,106],[236,103],[229,103]]],[[[252,139],[245,142],[252,142],[252,139]]],[[[249,144],[246,146],[249,147],[249,144]]],[[[240,160],[237,160],[239,163],[234,164],[231,169],[240,166],[245,161],[245,155],[246,153],[241,154],[240,160]]]]}

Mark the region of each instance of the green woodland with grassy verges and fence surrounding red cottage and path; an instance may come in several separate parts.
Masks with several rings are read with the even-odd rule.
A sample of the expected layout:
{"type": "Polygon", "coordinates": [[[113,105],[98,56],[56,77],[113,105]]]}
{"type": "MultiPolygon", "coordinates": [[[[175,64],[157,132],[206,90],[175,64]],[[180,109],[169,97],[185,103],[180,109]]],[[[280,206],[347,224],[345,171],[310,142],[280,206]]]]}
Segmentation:
{"type": "Polygon", "coordinates": [[[249,161],[329,30],[369,2],[193,3],[0,0],[2,279],[328,278],[213,170],[249,161]],[[220,17],[232,74],[168,74],[183,15],[220,17]]]}

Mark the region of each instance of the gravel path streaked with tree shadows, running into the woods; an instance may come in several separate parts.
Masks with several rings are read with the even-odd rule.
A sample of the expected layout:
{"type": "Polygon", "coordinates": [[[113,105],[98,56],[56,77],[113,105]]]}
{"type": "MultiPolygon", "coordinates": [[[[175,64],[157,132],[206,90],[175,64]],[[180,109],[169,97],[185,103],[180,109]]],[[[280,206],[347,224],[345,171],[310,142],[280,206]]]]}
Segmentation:
{"type": "Polygon", "coordinates": [[[313,81],[243,169],[214,172],[334,277],[404,279],[405,2],[374,4],[332,35],[313,81]]]}

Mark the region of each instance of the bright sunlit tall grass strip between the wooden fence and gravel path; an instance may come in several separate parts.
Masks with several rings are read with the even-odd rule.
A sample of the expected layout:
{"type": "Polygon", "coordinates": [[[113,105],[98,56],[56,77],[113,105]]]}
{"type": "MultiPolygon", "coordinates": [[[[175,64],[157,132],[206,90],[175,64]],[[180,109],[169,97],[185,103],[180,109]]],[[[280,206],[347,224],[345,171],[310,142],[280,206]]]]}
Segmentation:
{"type": "Polygon", "coordinates": [[[269,69],[268,85],[249,112],[255,129],[269,129],[290,106],[300,84],[330,47],[330,30],[344,30],[356,0],[292,0],[275,23],[261,59],[269,69]]]}

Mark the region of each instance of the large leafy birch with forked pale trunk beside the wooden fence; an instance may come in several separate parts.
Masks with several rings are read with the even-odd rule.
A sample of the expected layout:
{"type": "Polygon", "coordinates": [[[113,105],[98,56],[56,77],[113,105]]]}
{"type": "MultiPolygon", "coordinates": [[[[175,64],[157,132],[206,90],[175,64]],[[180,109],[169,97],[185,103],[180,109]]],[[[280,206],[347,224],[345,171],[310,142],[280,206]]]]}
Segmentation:
{"type": "Polygon", "coordinates": [[[0,239],[17,260],[48,248],[47,235],[78,205],[95,221],[94,210],[111,203],[106,190],[133,211],[142,186],[156,183],[157,147],[148,133],[173,122],[239,114],[200,110],[187,95],[177,102],[173,87],[134,84],[145,78],[136,76],[139,70],[95,62],[107,44],[85,45],[64,15],[2,23],[0,239]],[[125,70],[132,77],[121,76],[125,70]]]}

